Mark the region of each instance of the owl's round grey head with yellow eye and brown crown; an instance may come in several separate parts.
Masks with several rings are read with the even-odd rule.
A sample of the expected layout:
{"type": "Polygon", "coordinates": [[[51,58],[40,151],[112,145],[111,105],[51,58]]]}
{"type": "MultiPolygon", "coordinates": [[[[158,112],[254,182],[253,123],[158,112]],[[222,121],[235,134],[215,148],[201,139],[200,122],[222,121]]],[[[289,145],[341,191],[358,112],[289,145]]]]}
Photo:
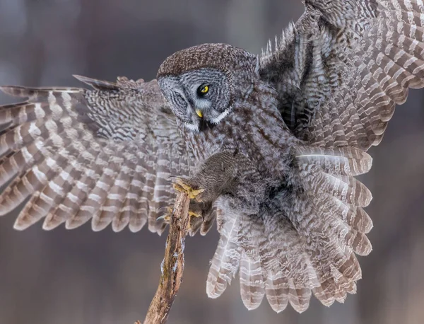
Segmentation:
{"type": "Polygon", "coordinates": [[[172,54],[160,66],[158,83],[179,122],[199,132],[217,125],[259,78],[258,59],[224,44],[204,44],[172,54]]]}

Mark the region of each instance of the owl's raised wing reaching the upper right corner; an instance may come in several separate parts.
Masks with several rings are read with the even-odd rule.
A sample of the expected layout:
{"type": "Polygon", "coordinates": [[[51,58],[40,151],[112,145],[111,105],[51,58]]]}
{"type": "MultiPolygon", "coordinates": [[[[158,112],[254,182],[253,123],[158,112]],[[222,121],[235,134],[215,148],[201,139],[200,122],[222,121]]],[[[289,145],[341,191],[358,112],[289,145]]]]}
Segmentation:
{"type": "Polygon", "coordinates": [[[408,88],[424,86],[420,0],[306,0],[298,23],[261,57],[296,137],[367,150],[408,88]]]}

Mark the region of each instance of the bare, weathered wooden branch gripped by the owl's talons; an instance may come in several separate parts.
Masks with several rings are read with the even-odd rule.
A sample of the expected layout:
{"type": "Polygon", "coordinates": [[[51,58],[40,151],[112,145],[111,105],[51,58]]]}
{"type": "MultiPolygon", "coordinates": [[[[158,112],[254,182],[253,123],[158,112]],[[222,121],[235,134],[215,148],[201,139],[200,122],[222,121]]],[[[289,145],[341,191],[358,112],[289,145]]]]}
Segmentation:
{"type": "Polygon", "coordinates": [[[143,324],[166,323],[172,303],[177,296],[179,285],[182,283],[184,241],[189,226],[189,203],[187,194],[179,192],[170,219],[165,258],[160,265],[162,274],[160,275],[158,290],[148,308],[143,324]]]}

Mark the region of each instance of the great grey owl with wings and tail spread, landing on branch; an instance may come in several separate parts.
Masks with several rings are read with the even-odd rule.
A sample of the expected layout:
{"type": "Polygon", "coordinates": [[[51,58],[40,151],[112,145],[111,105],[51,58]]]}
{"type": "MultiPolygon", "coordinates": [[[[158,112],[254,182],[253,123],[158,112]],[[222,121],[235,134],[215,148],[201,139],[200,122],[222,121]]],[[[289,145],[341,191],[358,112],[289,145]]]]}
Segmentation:
{"type": "Polygon", "coordinates": [[[237,272],[242,300],[305,311],[355,293],[371,194],[354,178],[408,88],[424,86],[421,0],[305,0],[305,13],[257,56],[206,44],[172,54],[158,81],[2,90],[0,214],[15,228],[112,224],[162,233],[175,189],[190,231],[217,219],[206,291],[237,272]],[[175,176],[177,178],[172,178],[175,176]]]}

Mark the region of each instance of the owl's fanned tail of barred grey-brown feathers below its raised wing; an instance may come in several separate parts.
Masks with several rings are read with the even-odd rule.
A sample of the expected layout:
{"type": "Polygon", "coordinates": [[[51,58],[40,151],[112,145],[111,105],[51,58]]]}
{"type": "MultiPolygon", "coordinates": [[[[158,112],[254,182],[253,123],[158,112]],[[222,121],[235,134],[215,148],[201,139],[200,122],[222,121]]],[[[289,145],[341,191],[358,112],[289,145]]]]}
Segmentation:
{"type": "Polygon", "coordinates": [[[295,189],[289,199],[276,195],[276,209],[245,215],[220,206],[221,238],[208,274],[208,296],[222,294],[239,268],[242,301],[249,309],[264,295],[274,311],[290,303],[302,312],[312,293],[326,306],[355,293],[362,277],[355,254],[370,253],[365,233],[372,221],[362,209],[370,203],[370,191],[353,175],[370,168],[370,157],[358,149],[309,147],[295,156],[293,172],[302,190],[295,189]]]}

